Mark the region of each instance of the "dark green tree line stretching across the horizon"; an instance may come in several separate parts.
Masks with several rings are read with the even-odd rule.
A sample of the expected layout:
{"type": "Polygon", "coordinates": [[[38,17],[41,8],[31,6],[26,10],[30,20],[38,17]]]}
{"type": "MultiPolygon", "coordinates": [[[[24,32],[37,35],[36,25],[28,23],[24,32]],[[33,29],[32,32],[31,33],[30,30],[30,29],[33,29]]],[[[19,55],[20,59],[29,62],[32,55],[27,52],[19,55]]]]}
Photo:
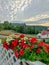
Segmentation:
{"type": "Polygon", "coordinates": [[[4,23],[0,23],[0,31],[1,30],[14,30],[18,33],[24,34],[38,34],[42,30],[46,30],[45,26],[27,26],[25,23],[9,23],[8,21],[4,21],[4,23]]]}

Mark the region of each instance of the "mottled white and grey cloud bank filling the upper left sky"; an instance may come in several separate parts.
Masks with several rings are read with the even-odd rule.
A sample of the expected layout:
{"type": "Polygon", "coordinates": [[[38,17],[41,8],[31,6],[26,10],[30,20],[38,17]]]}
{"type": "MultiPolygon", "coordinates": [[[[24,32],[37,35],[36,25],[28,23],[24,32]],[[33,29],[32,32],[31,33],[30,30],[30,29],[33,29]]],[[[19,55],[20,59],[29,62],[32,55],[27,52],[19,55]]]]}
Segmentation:
{"type": "Polygon", "coordinates": [[[15,18],[17,18],[17,12],[24,11],[31,1],[32,0],[0,0],[0,13],[3,13],[1,13],[0,16],[3,16],[2,19],[15,20],[15,18]]]}

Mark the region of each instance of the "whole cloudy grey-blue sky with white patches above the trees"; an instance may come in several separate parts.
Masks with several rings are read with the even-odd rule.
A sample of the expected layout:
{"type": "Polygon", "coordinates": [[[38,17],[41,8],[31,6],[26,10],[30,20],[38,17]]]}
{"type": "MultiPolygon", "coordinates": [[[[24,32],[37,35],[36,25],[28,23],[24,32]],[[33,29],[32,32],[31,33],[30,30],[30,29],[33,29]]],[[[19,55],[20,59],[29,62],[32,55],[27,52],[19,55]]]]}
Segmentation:
{"type": "Polygon", "coordinates": [[[49,0],[0,0],[0,21],[31,23],[45,18],[49,18],[49,0]]]}

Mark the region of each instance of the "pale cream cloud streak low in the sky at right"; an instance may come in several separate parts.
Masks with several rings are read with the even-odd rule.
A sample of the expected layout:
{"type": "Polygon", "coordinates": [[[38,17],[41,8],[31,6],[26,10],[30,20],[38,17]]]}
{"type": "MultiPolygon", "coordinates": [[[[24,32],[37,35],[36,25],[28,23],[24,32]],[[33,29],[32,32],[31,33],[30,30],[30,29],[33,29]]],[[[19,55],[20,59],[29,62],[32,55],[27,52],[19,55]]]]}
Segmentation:
{"type": "Polygon", "coordinates": [[[49,18],[49,14],[40,14],[33,17],[30,17],[28,19],[23,19],[22,21],[38,21],[40,19],[49,18]]]}

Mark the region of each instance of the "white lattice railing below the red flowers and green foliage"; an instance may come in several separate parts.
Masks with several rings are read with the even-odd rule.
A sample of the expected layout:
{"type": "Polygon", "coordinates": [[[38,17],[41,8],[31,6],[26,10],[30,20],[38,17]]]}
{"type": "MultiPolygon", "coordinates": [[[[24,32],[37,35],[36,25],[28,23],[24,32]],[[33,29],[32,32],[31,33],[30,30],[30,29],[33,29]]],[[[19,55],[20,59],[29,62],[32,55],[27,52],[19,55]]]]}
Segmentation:
{"type": "Polygon", "coordinates": [[[42,62],[25,61],[15,57],[12,50],[6,50],[0,45],[0,65],[46,65],[42,62]]]}

